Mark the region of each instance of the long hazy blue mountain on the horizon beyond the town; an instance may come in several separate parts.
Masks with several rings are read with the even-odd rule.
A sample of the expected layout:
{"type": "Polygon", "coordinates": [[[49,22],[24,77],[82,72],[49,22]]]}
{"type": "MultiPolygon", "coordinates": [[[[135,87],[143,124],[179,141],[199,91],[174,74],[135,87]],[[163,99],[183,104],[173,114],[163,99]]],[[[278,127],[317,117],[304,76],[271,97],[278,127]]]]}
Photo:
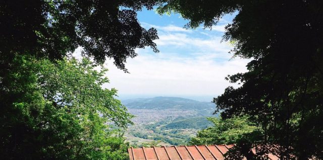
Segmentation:
{"type": "Polygon", "coordinates": [[[214,110],[214,104],[179,97],[154,97],[123,100],[128,108],[135,109],[182,109],[182,110],[214,110]]]}

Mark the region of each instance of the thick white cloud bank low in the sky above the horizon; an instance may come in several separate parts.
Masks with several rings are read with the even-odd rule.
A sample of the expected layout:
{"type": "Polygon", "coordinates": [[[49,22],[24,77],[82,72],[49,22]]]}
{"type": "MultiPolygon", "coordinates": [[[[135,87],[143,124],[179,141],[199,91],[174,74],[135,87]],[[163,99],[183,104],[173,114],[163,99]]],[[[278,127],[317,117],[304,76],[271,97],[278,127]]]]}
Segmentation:
{"type": "Polygon", "coordinates": [[[127,63],[130,74],[109,61],[110,71],[106,75],[111,83],[104,87],[116,88],[121,95],[219,95],[230,85],[225,76],[245,72],[248,61],[234,59],[214,63],[203,58],[172,58],[139,54],[127,63]]]}

